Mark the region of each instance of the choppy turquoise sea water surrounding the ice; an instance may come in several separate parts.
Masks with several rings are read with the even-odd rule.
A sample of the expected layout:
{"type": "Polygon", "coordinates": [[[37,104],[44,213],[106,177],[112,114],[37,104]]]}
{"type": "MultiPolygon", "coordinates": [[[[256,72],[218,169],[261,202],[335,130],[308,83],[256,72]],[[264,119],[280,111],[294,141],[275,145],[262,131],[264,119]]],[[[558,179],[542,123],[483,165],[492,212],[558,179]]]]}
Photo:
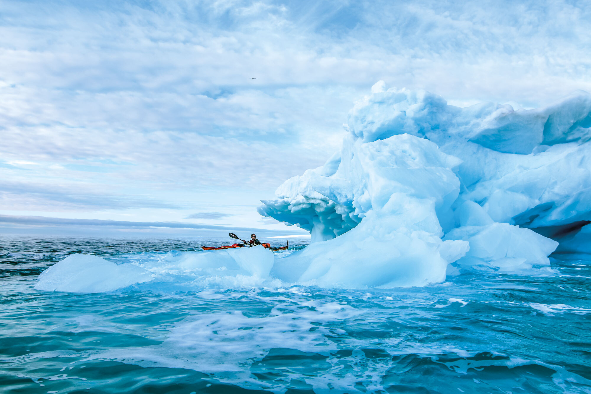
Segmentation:
{"type": "Polygon", "coordinates": [[[156,264],[228,243],[0,238],[0,392],[591,393],[589,256],[425,288],[207,288],[176,271],[112,293],[33,289],[74,253],[156,264]]]}

